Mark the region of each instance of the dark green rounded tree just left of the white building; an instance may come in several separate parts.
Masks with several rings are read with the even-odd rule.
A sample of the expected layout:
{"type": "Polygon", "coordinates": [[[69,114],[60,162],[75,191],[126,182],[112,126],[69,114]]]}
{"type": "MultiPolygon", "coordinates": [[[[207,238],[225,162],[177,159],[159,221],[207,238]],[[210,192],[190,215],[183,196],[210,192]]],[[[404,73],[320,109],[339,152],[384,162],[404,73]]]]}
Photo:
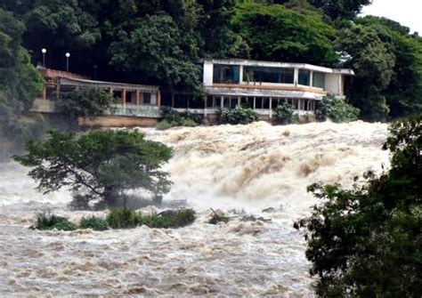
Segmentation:
{"type": "Polygon", "coordinates": [[[183,50],[196,45],[186,38],[170,16],[147,16],[118,31],[117,40],[110,44],[111,63],[126,71],[141,71],[171,90],[176,86],[196,90],[200,69],[183,50]]]}

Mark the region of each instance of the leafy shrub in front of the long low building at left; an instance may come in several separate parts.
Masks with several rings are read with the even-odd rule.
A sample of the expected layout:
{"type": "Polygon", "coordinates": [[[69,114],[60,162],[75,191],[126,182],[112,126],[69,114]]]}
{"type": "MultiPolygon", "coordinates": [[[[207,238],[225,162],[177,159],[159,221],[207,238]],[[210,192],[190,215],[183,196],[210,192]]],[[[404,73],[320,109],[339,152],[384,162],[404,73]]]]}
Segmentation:
{"type": "Polygon", "coordinates": [[[61,93],[56,103],[57,112],[74,120],[77,117],[98,117],[106,110],[112,110],[114,99],[110,93],[98,89],[80,89],[61,93]]]}

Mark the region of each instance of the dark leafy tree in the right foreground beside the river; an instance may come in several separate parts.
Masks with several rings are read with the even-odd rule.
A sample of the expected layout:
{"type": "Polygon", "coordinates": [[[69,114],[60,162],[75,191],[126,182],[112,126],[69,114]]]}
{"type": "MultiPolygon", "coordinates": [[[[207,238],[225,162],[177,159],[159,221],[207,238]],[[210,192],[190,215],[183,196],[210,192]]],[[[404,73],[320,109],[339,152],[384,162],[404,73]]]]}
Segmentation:
{"type": "Polygon", "coordinates": [[[391,169],[366,173],[363,186],[308,187],[323,199],[305,226],[324,297],[418,297],[422,288],[422,117],[396,122],[384,149],[391,169]]]}

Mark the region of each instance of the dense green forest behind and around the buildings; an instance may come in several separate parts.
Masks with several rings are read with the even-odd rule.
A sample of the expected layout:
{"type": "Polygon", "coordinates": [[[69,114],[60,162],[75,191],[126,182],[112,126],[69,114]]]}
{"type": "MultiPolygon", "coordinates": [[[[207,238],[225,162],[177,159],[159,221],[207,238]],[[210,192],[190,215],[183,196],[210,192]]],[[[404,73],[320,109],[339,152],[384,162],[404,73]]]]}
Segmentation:
{"type": "MultiPolygon", "coordinates": [[[[65,1],[0,3],[0,120],[14,139],[41,91],[30,63],[103,80],[202,93],[201,58],[283,60],[353,68],[346,92],[361,118],[422,110],[422,38],[393,20],[357,17],[369,0],[65,1]],[[25,48],[27,49],[25,50],[25,48]]],[[[32,126],[32,129],[29,129],[32,126]]],[[[38,126],[38,127],[37,127],[38,126]]],[[[34,129],[35,127],[35,129],[34,129]]]]}

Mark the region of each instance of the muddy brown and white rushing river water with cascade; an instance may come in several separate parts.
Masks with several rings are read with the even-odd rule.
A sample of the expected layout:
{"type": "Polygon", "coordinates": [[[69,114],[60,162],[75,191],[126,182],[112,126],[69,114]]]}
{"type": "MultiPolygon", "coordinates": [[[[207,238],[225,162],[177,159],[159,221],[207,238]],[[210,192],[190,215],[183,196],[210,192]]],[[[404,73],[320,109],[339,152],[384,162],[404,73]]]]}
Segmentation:
{"type": "Polygon", "coordinates": [[[144,131],[174,148],[165,199],[186,199],[198,220],[176,230],[28,230],[40,209],[74,220],[90,213],[70,212],[64,190],[38,193],[27,169],[0,165],[0,295],[312,296],[304,238],[292,228],[317,203],[306,186],[350,186],[388,162],[381,124],[144,131]],[[210,207],[231,210],[233,219],[208,224],[210,207]],[[240,221],[242,209],[272,221],[240,221]]]}

